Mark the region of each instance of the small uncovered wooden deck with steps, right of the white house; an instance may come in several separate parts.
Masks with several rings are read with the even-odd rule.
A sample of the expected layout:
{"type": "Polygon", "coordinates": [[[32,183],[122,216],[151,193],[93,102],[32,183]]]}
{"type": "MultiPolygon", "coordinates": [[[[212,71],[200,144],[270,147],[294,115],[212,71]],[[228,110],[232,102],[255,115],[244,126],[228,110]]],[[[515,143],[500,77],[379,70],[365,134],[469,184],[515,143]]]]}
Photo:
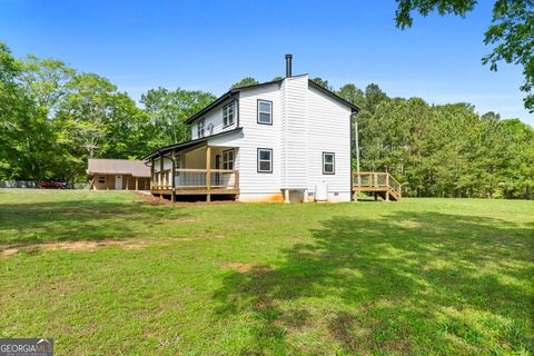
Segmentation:
{"type": "Polygon", "coordinates": [[[360,191],[370,192],[375,198],[379,196],[387,201],[398,201],[402,198],[400,184],[388,172],[353,172],[353,191],[356,200],[360,191]]]}

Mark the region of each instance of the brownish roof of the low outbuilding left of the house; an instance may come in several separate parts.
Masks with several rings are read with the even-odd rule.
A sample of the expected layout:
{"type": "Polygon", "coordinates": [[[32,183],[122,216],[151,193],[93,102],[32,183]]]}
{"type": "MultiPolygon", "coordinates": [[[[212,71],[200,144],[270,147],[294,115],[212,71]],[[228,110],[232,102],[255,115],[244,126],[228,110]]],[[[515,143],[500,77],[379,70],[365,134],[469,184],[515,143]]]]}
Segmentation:
{"type": "Polygon", "coordinates": [[[101,174],[150,177],[150,167],[147,167],[142,160],[89,158],[87,172],[89,175],[101,174]]]}

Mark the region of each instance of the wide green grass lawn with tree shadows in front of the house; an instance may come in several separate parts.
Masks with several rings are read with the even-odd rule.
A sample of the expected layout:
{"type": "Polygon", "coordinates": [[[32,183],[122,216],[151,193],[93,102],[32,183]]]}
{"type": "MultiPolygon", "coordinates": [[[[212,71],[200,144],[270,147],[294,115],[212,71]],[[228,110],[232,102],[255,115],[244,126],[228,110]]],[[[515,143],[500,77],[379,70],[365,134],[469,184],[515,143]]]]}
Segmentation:
{"type": "Polygon", "coordinates": [[[0,189],[0,337],[57,355],[534,352],[534,201],[0,189]]]}

